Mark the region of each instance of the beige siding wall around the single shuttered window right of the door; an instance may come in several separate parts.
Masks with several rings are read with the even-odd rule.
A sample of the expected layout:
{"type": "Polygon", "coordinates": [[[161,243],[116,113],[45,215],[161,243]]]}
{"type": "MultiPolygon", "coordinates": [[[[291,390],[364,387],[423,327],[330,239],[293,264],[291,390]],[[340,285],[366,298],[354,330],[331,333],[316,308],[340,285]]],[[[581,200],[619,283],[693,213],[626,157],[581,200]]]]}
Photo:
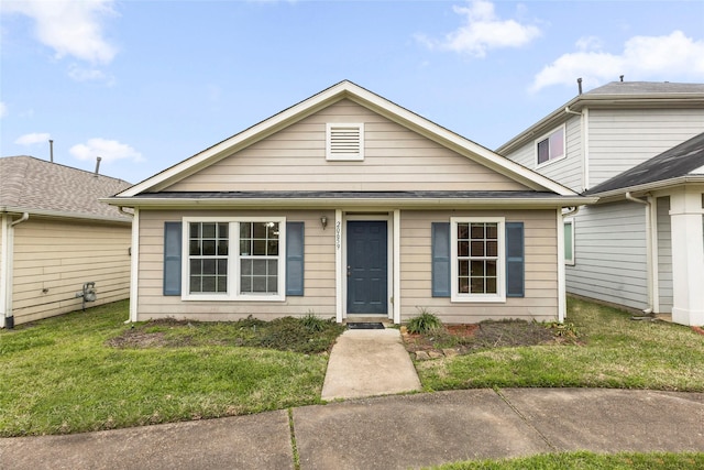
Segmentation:
{"type": "Polygon", "coordinates": [[[558,317],[556,220],[554,210],[402,212],[402,319],[414,317],[419,314],[419,309],[427,308],[450,324],[476,323],[490,318],[556,320],[558,317]],[[506,222],[524,222],[525,297],[508,297],[505,303],[451,303],[448,297],[432,297],[431,223],[449,222],[450,217],[505,217],[506,222]]]}

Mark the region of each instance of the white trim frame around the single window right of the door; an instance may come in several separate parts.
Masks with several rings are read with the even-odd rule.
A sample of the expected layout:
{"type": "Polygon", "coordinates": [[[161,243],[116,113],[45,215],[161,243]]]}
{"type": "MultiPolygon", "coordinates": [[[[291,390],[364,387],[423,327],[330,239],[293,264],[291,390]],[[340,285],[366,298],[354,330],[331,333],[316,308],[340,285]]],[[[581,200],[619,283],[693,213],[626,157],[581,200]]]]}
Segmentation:
{"type": "Polygon", "coordinates": [[[504,217],[451,217],[450,218],[450,276],[451,302],[505,303],[506,302],[506,220],[504,217]],[[496,223],[498,230],[498,259],[496,263],[496,294],[460,294],[458,285],[458,223],[496,223]]]}

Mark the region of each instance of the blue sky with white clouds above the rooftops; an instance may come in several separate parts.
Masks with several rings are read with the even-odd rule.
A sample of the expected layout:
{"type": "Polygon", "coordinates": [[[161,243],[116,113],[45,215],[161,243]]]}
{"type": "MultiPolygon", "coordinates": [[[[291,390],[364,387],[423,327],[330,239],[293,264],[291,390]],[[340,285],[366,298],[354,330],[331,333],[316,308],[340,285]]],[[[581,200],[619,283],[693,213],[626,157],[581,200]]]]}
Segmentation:
{"type": "Polygon", "coordinates": [[[704,0],[3,0],[0,155],[138,183],[343,79],[496,149],[609,81],[704,83],[704,0]]]}

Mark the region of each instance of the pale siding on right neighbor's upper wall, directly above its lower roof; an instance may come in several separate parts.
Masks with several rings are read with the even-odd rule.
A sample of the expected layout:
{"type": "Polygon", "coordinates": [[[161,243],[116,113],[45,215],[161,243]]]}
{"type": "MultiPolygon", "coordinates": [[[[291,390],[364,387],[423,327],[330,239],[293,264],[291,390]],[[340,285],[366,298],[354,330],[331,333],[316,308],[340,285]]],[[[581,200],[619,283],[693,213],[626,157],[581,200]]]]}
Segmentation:
{"type": "Polygon", "coordinates": [[[590,110],[590,187],[704,131],[704,109],[590,110]]]}

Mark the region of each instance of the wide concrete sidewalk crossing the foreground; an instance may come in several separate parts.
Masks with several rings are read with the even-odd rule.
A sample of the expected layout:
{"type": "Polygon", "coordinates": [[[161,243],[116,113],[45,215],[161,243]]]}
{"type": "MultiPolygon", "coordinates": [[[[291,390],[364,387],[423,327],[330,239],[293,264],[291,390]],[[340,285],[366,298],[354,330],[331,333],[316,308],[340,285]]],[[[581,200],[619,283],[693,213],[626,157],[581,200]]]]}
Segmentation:
{"type": "Polygon", "coordinates": [[[0,439],[3,469],[407,469],[569,450],[704,452],[704,393],[468,390],[0,439]]]}

